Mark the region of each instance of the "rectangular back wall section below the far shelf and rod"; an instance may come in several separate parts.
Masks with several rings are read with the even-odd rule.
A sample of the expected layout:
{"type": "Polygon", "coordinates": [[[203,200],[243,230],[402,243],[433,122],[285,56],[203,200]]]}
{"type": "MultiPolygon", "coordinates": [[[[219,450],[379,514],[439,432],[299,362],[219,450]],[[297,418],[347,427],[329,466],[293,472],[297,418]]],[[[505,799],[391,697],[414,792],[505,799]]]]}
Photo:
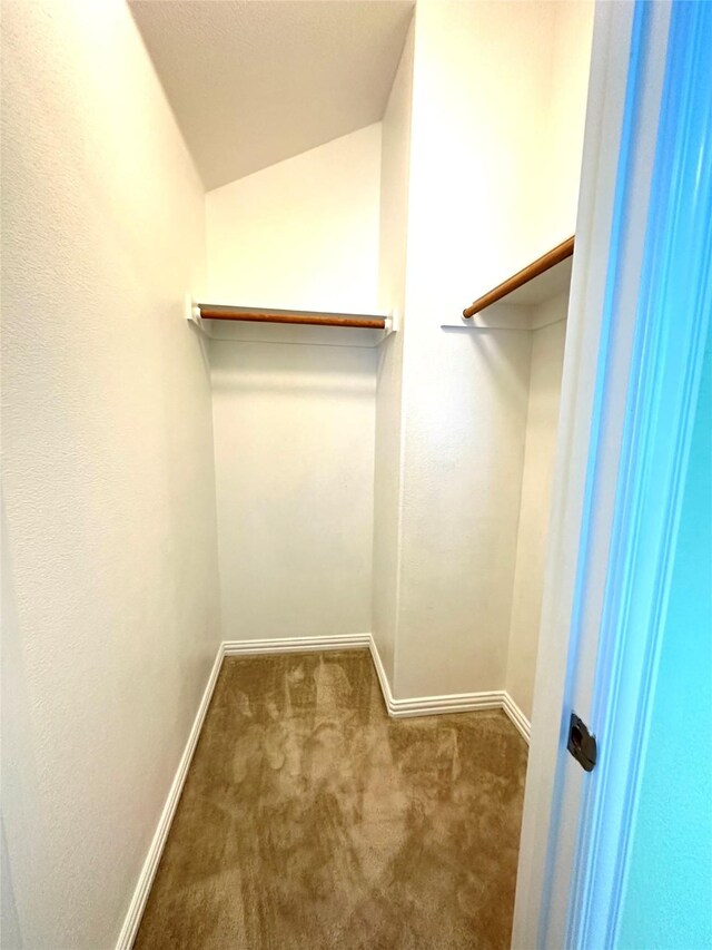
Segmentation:
{"type": "Polygon", "coordinates": [[[212,341],[226,639],[369,630],[375,352],[212,341]]]}

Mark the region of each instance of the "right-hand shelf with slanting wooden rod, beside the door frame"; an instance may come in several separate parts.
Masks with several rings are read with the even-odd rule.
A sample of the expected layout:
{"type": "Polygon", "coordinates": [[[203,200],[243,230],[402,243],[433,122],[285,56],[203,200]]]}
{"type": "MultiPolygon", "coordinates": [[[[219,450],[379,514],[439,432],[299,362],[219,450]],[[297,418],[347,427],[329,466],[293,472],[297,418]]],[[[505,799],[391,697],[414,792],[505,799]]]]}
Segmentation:
{"type": "Polygon", "coordinates": [[[562,241],[536,261],[477,297],[461,317],[443,322],[443,329],[536,330],[530,307],[551,300],[571,285],[574,238],[562,241]]]}

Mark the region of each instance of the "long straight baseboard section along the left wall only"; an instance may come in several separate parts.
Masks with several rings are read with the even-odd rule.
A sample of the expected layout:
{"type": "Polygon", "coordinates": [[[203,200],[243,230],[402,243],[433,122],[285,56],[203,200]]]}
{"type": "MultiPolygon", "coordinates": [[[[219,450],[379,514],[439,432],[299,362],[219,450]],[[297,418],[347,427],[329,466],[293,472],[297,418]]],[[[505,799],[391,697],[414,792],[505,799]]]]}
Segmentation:
{"type": "Polygon", "coordinates": [[[160,819],[158,820],[156,833],[154,834],[154,839],[148,849],[148,854],[146,855],[146,861],[144,862],[144,866],[141,868],[141,873],[139,874],[138,883],[136,884],[136,890],[134,891],[134,897],[131,898],[131,902],[129,903],[129,909],[126,914],[121,932],[119,933],[116,950],[131,950],[134,941],[136,940],[136,934],[138,933],[138,928],[141,922],[144,910],[146,908],[146,902],[148,901],[151,884],[154,883],[154,878],[156,876],[156,871],[158,870],[158,863],[160,861],[161,854],[164,853],[164,848],[168,839],[170,824],[174,820],[174,815],[178,806],[178,801],[180,799],[180,793],[182,792],[182,786],[185,784],[186,776],[188,775],[190,761],[192,760],[192,754],[196,751],[196,745],[198,744],[198,738],[200,736],[200,729],[202,728],[205,714],[208,712],[208,706],[210,705],[210,699],[212,698],[212,691],[215,689],[215,684],[218,679],[220,666],[222,665],[222,644],[220,644],[220,646],[218,647],[217,656],[215,657],[215,663],[212,664],[212,669],[210,670],[210,675],[208,677],[207,685],[200,699],[200,705],[198,706],[198,712],[196,713],[192,726],[190,727],[190,733],[188,734],[188,742],[186,743],[186,747],[184,748],[182,755],[180,756],[180,762],[178,763],[176,776],[171,783],[170,791],[168,792],[166,804],[164,805],[160,819]]]}

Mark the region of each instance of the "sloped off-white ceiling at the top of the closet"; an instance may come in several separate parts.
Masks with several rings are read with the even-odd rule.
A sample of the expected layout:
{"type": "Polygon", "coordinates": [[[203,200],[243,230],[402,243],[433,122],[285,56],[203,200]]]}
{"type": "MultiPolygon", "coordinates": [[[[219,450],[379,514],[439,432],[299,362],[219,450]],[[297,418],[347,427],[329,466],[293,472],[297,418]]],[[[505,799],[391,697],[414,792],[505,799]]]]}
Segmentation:
{"type": "Polygon", "coordinates": [[[206,189],[378,121],[413,0],[129,0],[206,189]]]}

